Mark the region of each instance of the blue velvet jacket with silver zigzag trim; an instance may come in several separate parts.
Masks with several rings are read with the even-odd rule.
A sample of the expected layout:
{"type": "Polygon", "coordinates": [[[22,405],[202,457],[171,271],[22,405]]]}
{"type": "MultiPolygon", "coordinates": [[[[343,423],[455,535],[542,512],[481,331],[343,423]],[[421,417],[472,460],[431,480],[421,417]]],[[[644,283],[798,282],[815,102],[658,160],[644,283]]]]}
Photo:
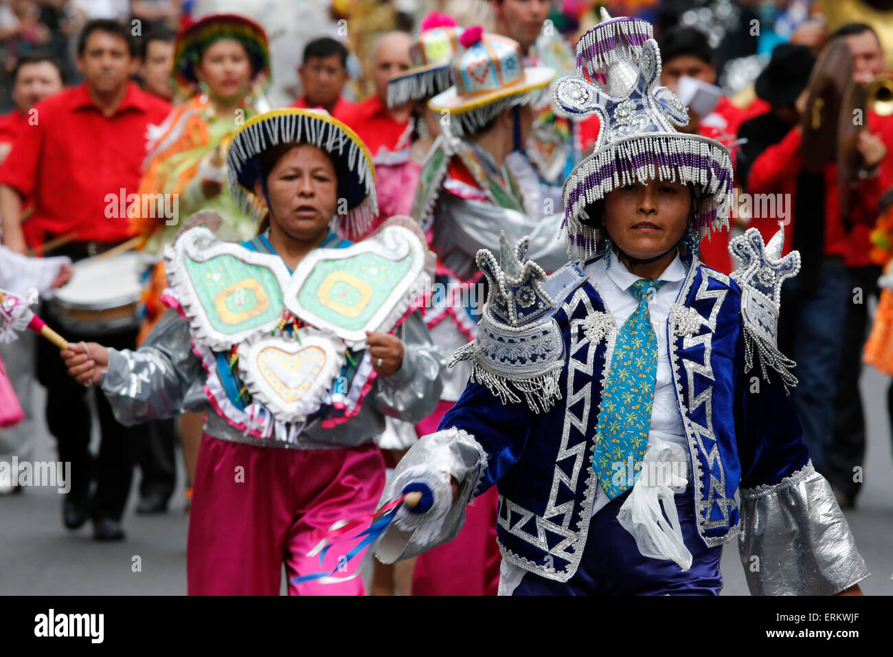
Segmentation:
{"type": "MultiPolygon", "coordinates": [[[[560,581],[576,571],[587,540],[596,420],[616,336],[613,328],[585,330],[584,320],[606,309],[584,265],[569,263],[543,285],[554,300],[553,340],[561,341],[552,348],[563,352],[555,405],[535,413],[522,400],[504,404],[485,385],[469,383],[440,424],[464,430],[486,454],[474,494],[497,485],[504,558],[560,581]]],[[[809,459],[779,377],[766,380],[758,368],[745,373],[741,297],[737,282],[695,260],[666,327],[693,465],[688,492],[710,546],[738,533],[739,486],[778,484],[809,459]]]]}

